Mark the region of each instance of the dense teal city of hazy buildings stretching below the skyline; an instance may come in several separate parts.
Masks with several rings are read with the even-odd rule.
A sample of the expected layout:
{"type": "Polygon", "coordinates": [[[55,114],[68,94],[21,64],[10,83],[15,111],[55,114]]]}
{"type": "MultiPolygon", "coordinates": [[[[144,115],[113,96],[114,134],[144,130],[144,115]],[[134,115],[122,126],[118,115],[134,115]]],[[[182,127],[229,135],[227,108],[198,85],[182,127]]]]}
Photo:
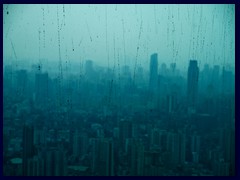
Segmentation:
{"type": "Polygon", "coordinates": [[[149,59],[136,72],[87,60],[65,78],[5,66],[4,174],[234,175],[234,72],[149,59]]]}

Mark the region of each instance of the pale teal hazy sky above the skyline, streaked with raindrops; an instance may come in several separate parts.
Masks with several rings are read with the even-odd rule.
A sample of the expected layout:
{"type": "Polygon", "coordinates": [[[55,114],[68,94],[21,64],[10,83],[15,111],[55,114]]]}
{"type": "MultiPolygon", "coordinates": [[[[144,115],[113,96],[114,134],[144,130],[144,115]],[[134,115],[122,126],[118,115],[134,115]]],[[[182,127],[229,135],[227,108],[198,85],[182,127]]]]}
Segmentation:
{"type": "Polygon", "coordinates": [[[4,5],[3,23],[4,61],[235,66],[234,5],[4,5]]]}

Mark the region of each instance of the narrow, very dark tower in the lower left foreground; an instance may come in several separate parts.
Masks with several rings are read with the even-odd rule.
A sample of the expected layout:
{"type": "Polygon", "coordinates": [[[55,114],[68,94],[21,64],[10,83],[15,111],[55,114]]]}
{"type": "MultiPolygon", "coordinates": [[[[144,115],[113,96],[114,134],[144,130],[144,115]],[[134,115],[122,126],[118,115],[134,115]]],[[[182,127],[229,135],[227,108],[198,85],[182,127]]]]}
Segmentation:
{"type": "Polygon", "coordinates": [[[27,176],[28,173],[28,161],[34,155],[33,145],[34,129],[30,125],[24,125],[23,127],[23,176],[27,176]]]}

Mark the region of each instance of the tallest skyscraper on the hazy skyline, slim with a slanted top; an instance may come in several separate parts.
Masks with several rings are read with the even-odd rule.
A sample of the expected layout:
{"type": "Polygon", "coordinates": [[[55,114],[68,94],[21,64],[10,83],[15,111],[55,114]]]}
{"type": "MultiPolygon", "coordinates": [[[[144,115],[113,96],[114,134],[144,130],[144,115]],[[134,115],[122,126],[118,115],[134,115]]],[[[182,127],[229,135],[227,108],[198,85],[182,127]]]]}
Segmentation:
{"type": "Polygon", "coordinates": [[[158,54],[154,53],[150,59],[149,89],[156,90],[158,82],[158,54]]]}

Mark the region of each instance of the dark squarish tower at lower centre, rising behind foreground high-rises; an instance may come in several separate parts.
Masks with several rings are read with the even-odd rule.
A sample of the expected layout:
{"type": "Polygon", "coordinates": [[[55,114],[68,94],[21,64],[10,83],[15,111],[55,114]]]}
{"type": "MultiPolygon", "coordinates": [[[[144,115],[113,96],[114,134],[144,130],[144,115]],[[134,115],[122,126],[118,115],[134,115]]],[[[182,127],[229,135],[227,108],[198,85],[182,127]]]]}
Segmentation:
{"type": "Polygon", "coordinates": [[[132,138],[132,122],[129,120],[121,120],[119,122],[119,140],[122,147],[125,146],[127,138],[132,138]]]}

